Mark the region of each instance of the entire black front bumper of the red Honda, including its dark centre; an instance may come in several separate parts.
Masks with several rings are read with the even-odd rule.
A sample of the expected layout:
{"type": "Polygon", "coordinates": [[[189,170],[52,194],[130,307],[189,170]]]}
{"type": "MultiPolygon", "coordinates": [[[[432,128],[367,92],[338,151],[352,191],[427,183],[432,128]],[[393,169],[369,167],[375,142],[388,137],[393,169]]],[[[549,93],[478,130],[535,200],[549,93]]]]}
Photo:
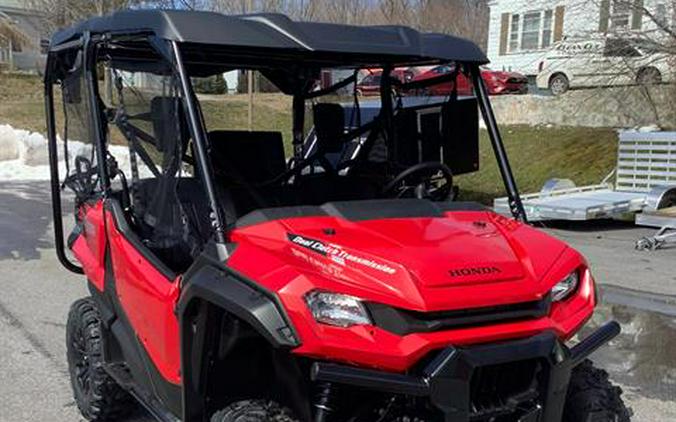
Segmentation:
{"type": "Polygon", "coordinates": [[[315,363],[312,379],[427,397],[447,422],[515,413],[517,421],[553,422],[561,420],[572,369],[619,333],[619,324],[611,321],[572,348],[551,332],[505,343],[449,347],[417,375],[315,363]],[[500,373],[500,368],[509,369],[500,373]]]}

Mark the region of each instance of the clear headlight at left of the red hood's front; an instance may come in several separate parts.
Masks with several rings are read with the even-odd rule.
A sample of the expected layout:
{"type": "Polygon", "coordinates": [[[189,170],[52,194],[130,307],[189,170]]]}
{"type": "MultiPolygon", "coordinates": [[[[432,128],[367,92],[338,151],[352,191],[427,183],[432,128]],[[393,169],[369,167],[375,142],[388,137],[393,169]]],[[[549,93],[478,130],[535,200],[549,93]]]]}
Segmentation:
{"type": "Polygon", "coordinates": [[[364,304],[356,297],[314,290],[305,303],[317,322],[337,327],[372,324],[364,304]]]}

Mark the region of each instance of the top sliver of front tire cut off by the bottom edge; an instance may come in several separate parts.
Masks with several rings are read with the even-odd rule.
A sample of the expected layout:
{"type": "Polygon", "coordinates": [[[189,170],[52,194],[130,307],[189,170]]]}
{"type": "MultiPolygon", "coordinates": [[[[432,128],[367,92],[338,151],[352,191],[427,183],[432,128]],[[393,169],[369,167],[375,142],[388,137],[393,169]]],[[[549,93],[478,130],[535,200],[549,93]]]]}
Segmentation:
{"type": "Polygon", "coordinates": [[[299,422],[291,411],[268,400],[245,400],[214,413],[211,422],[299,422]]]}

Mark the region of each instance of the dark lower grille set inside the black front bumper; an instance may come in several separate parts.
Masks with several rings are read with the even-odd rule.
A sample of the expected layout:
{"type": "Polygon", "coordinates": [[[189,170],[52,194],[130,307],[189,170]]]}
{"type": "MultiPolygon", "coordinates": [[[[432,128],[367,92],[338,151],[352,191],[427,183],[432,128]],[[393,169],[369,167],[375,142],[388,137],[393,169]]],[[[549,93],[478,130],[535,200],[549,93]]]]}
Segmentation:
{"type": "Polygon", "coordinates": [[[537,400],[541,371],[537,359],[477,367],[470,381],[471,418],[511,415],[537,400]]]}

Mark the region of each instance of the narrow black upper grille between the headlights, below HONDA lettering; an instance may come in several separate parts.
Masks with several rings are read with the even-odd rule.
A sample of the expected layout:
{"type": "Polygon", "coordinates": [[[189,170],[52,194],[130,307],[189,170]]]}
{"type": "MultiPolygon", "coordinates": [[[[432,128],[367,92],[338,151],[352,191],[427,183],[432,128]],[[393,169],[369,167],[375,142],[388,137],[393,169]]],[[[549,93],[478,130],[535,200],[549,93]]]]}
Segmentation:
{"type": "Polygon", "coordinates": [[[380,303],[366,306],[377,327],[406,335],[541,318],[549,314],[551,299],[441,312],[415,312],[380,303]]]}

